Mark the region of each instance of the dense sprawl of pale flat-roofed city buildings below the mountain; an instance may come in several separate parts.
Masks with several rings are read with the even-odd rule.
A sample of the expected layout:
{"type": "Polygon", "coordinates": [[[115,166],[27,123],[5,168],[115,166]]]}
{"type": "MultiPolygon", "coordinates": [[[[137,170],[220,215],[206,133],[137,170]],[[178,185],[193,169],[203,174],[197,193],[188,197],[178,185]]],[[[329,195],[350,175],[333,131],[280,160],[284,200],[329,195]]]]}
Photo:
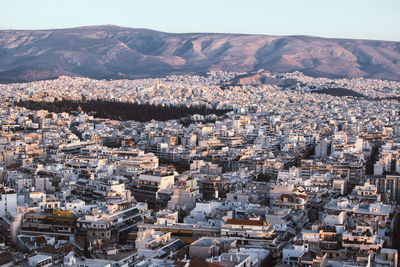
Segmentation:
{"type": "Polygon", "coordinates": [[[400,82],[256,74],[0,84],[0,266],[398,266],[400,82]]]}

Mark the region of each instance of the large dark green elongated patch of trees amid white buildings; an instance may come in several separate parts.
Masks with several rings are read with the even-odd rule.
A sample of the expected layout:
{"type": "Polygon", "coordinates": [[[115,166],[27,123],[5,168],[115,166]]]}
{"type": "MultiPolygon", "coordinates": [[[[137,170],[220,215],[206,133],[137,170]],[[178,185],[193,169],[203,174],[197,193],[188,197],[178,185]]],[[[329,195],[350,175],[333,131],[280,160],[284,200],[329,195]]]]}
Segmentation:
{"type": "Polygon", "coordinates": [[[210,109],[205,106],[161,106],[152,104],[111,102],[105,100],[62,100],[55,102],[28,100],[19,101],[16,103],[16,105],[31,110],[43,109],[56,113],[84,111],[98,118],[112,120],[134,120],[140,122],[147,122],[151,121],[152,119],[158,121],[167,121],[179,119],[193,114],[215,114],[217,116],[221,116],[229,111],[214,108],[210,109]]]}

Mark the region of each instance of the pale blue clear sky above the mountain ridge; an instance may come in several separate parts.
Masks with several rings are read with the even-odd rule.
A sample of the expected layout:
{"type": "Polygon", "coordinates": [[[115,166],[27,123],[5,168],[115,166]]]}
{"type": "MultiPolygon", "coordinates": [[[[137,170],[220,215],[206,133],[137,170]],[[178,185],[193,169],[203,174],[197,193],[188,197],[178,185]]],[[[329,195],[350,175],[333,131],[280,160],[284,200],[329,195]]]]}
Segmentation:
{"type": "Polygon", "coordinates": [[[400,0],[0,0],[0,29],[104,24],[400,41],[400,0]]]}

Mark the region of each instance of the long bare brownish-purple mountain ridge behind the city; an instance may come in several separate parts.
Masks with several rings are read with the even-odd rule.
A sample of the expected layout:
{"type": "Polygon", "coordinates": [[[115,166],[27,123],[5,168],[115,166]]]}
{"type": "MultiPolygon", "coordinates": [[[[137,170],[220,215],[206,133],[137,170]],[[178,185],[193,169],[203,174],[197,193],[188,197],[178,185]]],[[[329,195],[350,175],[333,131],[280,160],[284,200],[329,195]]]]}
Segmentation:
{"type": "Polygon", "coordinates": [[[224,33],[165,33],[113,25],[0,31],[0,82],[60,75],[135,79],[211,70],[301,71],[400,81],[400,42],[224,33]]]}

